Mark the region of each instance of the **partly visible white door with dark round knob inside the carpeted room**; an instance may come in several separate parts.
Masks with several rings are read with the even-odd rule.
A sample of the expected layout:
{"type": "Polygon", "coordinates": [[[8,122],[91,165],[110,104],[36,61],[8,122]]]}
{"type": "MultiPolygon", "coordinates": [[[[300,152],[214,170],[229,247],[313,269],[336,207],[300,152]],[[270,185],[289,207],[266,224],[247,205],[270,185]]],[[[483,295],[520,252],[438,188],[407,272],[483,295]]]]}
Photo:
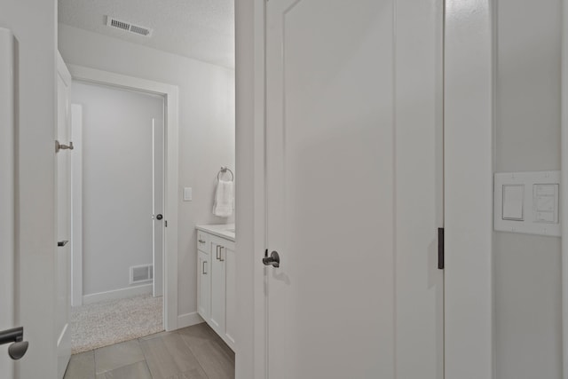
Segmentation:
{"type": "Polygon", "coordinates": [[[154,260],[154,297],[163,296],[163,190],[164,190],[164,130],[163,119],[152,119],[152,257],[154,260]],[[158,215],[162,215],[158,217],[158,215]],[[159,219],[158,219],[159,218],[159,219]]]}

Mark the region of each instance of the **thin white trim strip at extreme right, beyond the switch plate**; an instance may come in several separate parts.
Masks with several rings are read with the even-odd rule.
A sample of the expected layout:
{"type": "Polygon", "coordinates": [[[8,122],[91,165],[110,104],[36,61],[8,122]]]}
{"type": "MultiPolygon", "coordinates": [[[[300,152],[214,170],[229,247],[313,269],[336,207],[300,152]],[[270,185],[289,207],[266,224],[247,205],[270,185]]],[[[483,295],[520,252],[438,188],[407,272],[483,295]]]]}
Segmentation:
{"type": "Polygon", "coordinates": [[[562,361],[568,379],[568,0],[562,2],[562,91],[561,91],[561,171],[560,219],[562,233],[562,361]]]}

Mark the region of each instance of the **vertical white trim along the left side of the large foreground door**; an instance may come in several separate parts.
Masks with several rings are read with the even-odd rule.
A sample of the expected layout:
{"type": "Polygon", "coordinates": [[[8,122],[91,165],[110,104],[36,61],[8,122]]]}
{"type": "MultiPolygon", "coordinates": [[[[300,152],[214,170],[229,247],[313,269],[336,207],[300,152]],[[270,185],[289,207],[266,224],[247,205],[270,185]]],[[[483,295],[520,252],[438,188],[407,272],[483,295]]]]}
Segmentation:
{"type": "Polygon", "coordinates": [[[237,354],[235,378],[266,378],[264,318],[264,0],[235,2],[237,354]],[[239,211],[249,209],[251,211],[239,211]]]}

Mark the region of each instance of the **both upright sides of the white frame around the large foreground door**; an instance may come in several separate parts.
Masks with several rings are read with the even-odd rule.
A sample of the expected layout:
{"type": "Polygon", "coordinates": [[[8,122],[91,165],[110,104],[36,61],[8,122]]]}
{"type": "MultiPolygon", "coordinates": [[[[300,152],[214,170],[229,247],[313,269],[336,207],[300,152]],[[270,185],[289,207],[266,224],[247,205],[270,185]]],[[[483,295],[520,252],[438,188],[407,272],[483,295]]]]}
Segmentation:
{"type": "MultiPolygon", "coordinates": [[[[492,13],[486,1],[446,0],[447,379],[493,377],[492,13]]],[[[235,2],[235,27],[236,167],[241,173],[236,197],[240,335],[235,374],[237,379],[260,379],[267,376],[268,359],[266,269],[261,265],[265,249],[265,0],[235,2]]]]}

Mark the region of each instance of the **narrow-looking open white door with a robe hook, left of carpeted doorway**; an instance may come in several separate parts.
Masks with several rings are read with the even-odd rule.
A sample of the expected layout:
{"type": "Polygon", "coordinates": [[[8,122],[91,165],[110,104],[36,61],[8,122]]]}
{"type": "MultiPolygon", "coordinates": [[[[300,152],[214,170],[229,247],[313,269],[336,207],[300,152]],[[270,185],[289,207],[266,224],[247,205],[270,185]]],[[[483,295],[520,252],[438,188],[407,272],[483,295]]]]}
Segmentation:
{"type": "Polygon", "coordinates": [[[57,75],[57,140],[63,148],[56,154],[57,179],[57,243],[56,249],[56,320],[55,328],[58,337],[58,375],[62,378],[71,357],[71,330],[69,319],[71,313],[71,117],[69,92],[71,75],[59,55],[57,75]],[[67,147],[67,148],[66,148],[67,147]]]}

